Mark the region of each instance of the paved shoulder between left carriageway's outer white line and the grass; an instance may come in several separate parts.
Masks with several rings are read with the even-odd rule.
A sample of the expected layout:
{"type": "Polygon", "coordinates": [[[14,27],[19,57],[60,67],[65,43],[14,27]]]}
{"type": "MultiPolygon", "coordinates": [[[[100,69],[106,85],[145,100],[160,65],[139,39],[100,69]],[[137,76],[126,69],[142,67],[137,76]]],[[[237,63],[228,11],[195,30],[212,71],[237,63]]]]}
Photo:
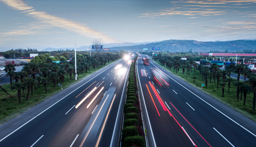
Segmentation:
{"type": "MultiPolygon", "coordinates": [[[[120,61],[122,61],[122,60],[120,60],[120,61]]],[[[120,61],[117,61],[116,63],[119,63],[120,61]]],[[[115,64],[113,64],[113,65],[115,65],[115,64]]],[[[103,68],[103,69],[106,70],[106,69],[111,68],[111,67],[106,67],[106,68],[103,68]]],[[[99,74],[100,72],[102,72],[102,70],[94,73],[92,76],[96,77],[96,75],[99,74]]],[[[91,79],[92,79],[92,76],[89,76],[89,77],[85,78],[84,80],[80,81],[79,83],[77,83],[73,86],[70,86],[69,88],[65,89],[64,91],[60,92],[59,94],[57,94],[57,95],[55,95],[51,98],[48,98],[44,102],[36,105],[35,107],[30,109],[29,111],[26,111],[25,113],[21,114],[20,116],[8,121],[7,123],[2,124],[0,126],[0,130],[1,130],[0,137],[4,138],[6,135],[11,133],[12,131],[17,129],[18,127],[22,126],[23,124],[26,125],[26,123],[28,121],[30,121],[32,118],[34,118],[35,116],[37,116],[38,114],[40,114],[41,112],[43,112],[44,110],[46,110],[47,108],[52,106],[55,102],[59,101],[60,99],[65,99],[66,96],[71,95],[71,94],[73,95],[72,97],[75,97],[73,92],[76,89],[79,89],[78,87],[82,87],[85,84],[84,81],[89,80],[89,82],[90,82],[91,79]]]]}

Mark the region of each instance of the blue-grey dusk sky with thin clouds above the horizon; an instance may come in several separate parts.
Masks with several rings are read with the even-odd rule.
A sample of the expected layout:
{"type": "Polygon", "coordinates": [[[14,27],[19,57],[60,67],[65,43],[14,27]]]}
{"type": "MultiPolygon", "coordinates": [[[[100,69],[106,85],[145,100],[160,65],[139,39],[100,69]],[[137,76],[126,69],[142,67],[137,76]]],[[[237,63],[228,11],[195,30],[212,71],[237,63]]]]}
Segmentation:
{"type": "Polygon", "coordinates": [[[0,0],[0,51],[256,39],[256,0],[0,0]]]}

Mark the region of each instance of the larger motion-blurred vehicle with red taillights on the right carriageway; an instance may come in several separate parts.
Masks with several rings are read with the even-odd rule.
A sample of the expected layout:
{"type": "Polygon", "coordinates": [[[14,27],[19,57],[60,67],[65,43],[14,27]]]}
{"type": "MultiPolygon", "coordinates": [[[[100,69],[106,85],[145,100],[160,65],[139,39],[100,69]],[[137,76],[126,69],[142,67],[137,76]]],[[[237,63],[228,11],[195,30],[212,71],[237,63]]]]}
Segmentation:
{"type": "Polygon", "coordinates": [[[151,68],[151,74],[153,75],[153,80],[157,83],[160,87],[169,87],[168,84],[168,77],[162,73],[158,68],[151,68]]]}

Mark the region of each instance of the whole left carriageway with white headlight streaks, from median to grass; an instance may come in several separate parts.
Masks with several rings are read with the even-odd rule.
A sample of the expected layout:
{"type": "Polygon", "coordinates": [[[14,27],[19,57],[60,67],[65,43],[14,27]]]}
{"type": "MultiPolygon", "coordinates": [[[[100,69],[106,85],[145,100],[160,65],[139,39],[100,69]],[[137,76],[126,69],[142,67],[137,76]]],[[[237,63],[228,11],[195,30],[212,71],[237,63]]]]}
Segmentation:
{"type": "Polygon", "coordinates": [[[133,57],[100,69],[0,125],[0,147],[117,147],[133,57]]]}

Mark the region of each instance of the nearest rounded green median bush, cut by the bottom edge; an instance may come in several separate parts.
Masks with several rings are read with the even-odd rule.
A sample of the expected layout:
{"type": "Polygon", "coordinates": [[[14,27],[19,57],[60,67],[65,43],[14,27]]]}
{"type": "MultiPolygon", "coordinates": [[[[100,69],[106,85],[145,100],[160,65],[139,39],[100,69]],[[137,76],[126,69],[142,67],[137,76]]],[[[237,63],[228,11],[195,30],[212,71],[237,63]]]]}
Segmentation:
{"type": "Polygon", "coordinates": [[[136,145],[139,147],[146,147],[145,138],[142,136],[126,137],[124,140],[124,147],[131,147],[133,145],[136,145]]]}

